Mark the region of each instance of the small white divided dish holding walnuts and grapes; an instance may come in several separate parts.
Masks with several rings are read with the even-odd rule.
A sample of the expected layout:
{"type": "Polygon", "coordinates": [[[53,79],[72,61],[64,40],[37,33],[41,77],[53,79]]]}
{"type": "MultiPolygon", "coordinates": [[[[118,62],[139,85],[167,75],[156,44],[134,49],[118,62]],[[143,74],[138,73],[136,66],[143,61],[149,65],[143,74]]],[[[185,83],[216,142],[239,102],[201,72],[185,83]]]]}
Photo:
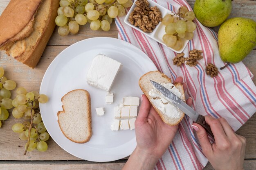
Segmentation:
{"type": "MultiPolygon", "coordinates": [[[[160,23],[155,27],[155,29],[153,30],[152,33],[145,33],[145,32],[143,32],[141,29],[139,29],[139,27],[130,24],[130,22],[128,21],[128,18],[129,18],[129,16],[130,16],[130,13],[132,13],[133,9],[136,7],[136,4],[135,4],[136,1],[137,1],[137,0],[135,0],[135,1],[133,2],[132,7],[131,7],[130,10],[128,11],[128,13],[127,13],[127,15],[126,15],[126,17],[125,17],[125,19],[124,19],[124,23],[126,23],[127,25],[131,26],[132,28],[134,28],[134,29],[140,31],[141,33],[144,33],[144,34],[147,35],[148,37],[150,37],[150,38],[154,39],[155,41],[157,41],[157,42],[163,44],[164,46],[166,46],[165,43],[164,43],[164,41],[162,40],[162,37],[163,37],[163,35],[165,34],[165,31],[164,31],[165,25],[162,24],[162,22],[160,22],[160,23]]],[[[149,3],[149,6],[150,6],[150,7],[156,6],[156,7],[161,11],[163,18],[164,18],[164,16],[167,15],[167,14],[171,14],[171,15],[174,14],[172,11],[170,11],[170,10],[168,10],[168,9],[166,9],[166,8],[164,8],[164,7],[162,7],[161,5],[157,4],[156,2],[154,2],[154,1],[152,1],[152,0],[148,0],[148,3],[149,3]]],[[[171,50],[173,50],[173,51],[175,51],[175,52],[177,52],[177,53],[181,53],[181,52],[184,50],[184,48],[186,47],[186,45],[188,44],[189,40],[182,38],[182,41],[183,41],[183,47],[182,47],[182,49],[180,49],[180,50],[177,51],[177,50],[174,50],[173,48],[170,48],[170,47],[168,47],[168,48],[170,48],[171,50]]],[[[166,47],[167,47],[167,46],[166,46],[166,47]]]]}

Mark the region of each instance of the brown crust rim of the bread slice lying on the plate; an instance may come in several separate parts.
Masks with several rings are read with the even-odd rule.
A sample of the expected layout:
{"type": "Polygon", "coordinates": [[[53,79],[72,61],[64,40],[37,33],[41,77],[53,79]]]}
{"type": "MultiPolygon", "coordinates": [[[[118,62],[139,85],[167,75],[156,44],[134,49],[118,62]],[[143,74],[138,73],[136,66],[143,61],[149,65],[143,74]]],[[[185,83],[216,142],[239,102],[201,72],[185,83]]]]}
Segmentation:
{"type": "MultiPolygon", "coordinates": [[[[64,131],[63,131],[62,127],[61,127],[61,124],[60,124],[60,122],[59,122],[59,119],[58,119],[58,125],[60,126],[63,135],[65,135],[65,137],[67,137],[67,139],[70,139],[72,142],[75,142],[75,143],[78,143],[78,144],[84,144],[84,143],[88,142],[88,141],[91,139],[91,137],[92,137],[92,113],[91,113],[91,98],[90,98],[90,93],[89,93],[87,90],[85,90],[85,89],[75,89],[75,90],[72,90],[72,91],[70,91],[70,92],[67,92],[67,94],[69,94],[69,93],[71,93],[71,92],[74,92],[74,91],[81,91],[81,90],[86,93],[87,99],[88,99],[88,101],[89,101],[89,102],[88,102],[87,111],[88,111],[88,113],[89,113],[89,120],[88,120],[88,124],[89,124],[89,125],[88,125],[88,126],[90,127],[90,129],[89,129],[90,135],[87,137],[87,139],[85,139],[85,140],[83,140],[83,141],[76,141],[76,140],[71,139],[69,136],[67,136],[67,135],[64,133],[64,131]]],[[[61,102],[63,102],[63,98],[64,98],[67,94],[65,94],[65,95],[61,98],[61,102]]],[[[58,113],[57,113],[58,118],[59,118],[59,115],[60,115],[60,114],[65,113],[65,106],[62,105],[62,108],[63,108],[63,111],[58,111],[58,113]]]]}

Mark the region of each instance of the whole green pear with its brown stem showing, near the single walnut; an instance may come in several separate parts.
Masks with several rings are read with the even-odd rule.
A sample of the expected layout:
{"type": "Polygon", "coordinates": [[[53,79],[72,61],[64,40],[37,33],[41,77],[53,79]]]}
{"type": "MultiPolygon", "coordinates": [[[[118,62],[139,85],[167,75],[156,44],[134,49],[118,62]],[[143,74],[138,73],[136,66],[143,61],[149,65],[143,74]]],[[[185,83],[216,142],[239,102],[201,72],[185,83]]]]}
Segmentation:
{"type": "Polygon", "coordinates": [[[218,38],[222,61],[238,63],[256,46],[256,22],[249,18],[231,18],[220,26],[218,38]]]}

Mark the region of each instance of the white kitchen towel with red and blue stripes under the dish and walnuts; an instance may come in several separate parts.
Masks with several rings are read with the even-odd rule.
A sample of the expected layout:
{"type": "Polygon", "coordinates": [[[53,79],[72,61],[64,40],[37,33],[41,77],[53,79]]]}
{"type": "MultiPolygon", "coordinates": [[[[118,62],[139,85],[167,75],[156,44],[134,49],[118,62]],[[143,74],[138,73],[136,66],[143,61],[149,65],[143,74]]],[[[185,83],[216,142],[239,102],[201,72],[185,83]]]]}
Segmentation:
{"type": "MultiPolygon", "coordinates": [[[[180,6],[192,11],[185,0],[154,1],[171,11],[177,12],[180,6]]],[[[172,80],[178,76],[184,78],[188,87],[186,98],[192,98],[193,109],[202,115],[226,118],[236,131],[256,112],[256,87],[252,82],[253,75],[242,62],[230,64],[224,70],[220,70],[225,63],[219,55],[218,34],[202,26],[196,19],[194,22],[197,25],[194,38],[186,45],[184,53],[186,56],[189,50],[202,50],[204,59],[195,67],[185,64],[177,67],[172,61],[175,52],[124,24],[124,17],[116,18],[119,39],[140,48],[155,63],[158,70],[172,80]],[[213,63],[218,67],[218,76],[211,78],[206,74],[207,63],[213,63]]],[[[204,157],[191,128],[192,123],[189,117],[184,117],[172,144],[157,162],[155,170],[202,170],[206,166],[208,160],[204,157]]]]}

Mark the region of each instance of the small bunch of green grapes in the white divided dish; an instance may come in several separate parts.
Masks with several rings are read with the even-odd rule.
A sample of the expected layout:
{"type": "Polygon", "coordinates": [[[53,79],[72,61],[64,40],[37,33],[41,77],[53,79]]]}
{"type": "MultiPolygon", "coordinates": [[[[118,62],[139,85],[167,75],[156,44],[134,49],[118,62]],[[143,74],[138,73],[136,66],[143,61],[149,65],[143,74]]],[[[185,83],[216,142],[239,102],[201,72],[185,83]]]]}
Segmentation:
{"type": "Polygon", "coordinates": [[[193,22],[195,13],[186,7],[180,7],[179,13],[164,16],[162,23],[166,26],[166,34],[162,37],[166,46],[180,50],[184,46],[183,39],[193,39],[196,25],[193,22]]]}

